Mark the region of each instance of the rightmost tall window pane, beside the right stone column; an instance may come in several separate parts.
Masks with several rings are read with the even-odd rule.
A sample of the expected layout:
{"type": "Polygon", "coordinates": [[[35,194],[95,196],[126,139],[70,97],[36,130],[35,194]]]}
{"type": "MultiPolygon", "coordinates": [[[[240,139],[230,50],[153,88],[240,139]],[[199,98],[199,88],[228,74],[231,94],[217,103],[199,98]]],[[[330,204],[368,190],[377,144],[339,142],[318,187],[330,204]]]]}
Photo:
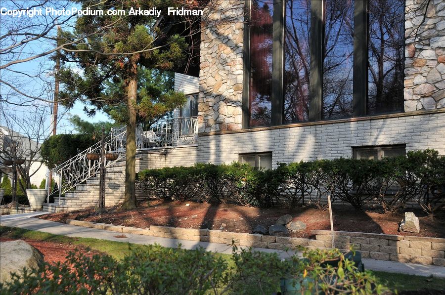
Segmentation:
{"type": "Polygon", "coordinates": [[[368,1],[367,114],[403,111],[404,0],[368,1]]]}

